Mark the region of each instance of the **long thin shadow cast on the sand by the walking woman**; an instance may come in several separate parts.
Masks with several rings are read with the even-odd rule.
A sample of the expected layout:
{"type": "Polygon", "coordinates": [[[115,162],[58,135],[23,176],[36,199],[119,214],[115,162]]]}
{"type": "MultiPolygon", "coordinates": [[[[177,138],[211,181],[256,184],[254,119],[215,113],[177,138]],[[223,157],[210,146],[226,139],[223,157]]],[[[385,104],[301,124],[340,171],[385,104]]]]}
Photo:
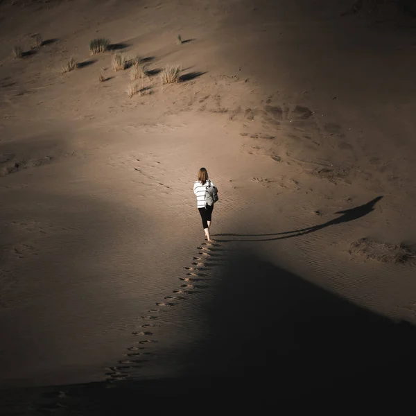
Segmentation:
{"type": "Polygon", "coordinates": [[[313,225],[312,227],[306,227],[302,229],[293,229],[292,231],[285,231],[285,232],[277,232],[272,234],[213,234],[213,236],[250,236],[250,237],[263,237],[263,236],[281,236],[275,237],[272,239],[245,239],[245,240],[224,240],[220,239],[223,243],[229,241],[275,241],[275,240],[283,240],[283,239],[291,239],[292,237],[302,236],[304,234],[309,234],[311,232],[318,231],[322,228],[330,227],[331,225],[348,223],[349,221],[357,220],[358,218],[362,218],[367,214],[370,214],[371,211],[374,211],[374,206],[376,205],[379,200],[381,200],[383,196],[377,196],[370,202],[367,202],[364,205],[360,205],[359,207],[345,209],[345,211],[338,211],[336,214],[343,214],[338,218],[334,218],[333,220],[329,220],[326,223],[313,225]],[[289,234],[289,235],[288,235],[289,234]]]}

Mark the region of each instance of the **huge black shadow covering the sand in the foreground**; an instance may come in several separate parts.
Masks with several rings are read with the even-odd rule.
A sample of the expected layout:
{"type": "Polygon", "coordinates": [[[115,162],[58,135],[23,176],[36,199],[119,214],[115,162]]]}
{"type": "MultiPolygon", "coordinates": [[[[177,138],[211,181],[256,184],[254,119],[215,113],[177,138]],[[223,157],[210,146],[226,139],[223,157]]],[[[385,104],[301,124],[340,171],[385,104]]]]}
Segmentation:
{"type": "MultiPolygon", "coordinates": [[[[250,252],[229,260],[201,305],[206,335],[196,334],[190,347],[171,356],[180,374],[116,381],[114,388],[105,382],[45,387],[37,390],[37,409],[110,415],[116,408],[129,415],[137,403],[163,406],[166,400],[171,406],[175,399],[245,414],[287,400],[380,404],[384,395],[413,394],[413,325],[348,302],[250,252]]],[[[19,390],[7,393],[10,402],[18,397],[19,390]]]]}

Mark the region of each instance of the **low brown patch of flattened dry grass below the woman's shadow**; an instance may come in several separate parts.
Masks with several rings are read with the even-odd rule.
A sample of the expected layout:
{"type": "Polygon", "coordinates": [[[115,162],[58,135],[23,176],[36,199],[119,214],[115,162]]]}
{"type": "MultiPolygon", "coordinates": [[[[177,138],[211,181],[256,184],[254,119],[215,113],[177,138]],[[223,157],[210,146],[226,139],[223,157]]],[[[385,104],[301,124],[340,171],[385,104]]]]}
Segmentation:
{"type": "Polygon", "coordinates": [[[406,263],[416,259],[416,252],[403,244],[385,244],[372,239],[359,239],[349,248],[350,254],[361,254],[366,259],[382,263],[406,263]]]}

